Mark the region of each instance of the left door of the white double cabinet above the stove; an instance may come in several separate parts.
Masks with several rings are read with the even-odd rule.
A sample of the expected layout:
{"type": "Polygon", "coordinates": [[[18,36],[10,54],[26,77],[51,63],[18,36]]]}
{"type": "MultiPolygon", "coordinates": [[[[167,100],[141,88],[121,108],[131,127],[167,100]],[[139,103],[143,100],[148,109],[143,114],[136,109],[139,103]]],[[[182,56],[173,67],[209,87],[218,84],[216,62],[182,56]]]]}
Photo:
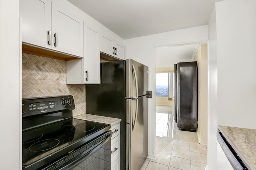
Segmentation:
{"type": "Polygon", "coordinates": [[[20,0],[20,17],[22,41],[51,49],[48,44],[48,31],[52,30],[51,0],[20,0]]]}

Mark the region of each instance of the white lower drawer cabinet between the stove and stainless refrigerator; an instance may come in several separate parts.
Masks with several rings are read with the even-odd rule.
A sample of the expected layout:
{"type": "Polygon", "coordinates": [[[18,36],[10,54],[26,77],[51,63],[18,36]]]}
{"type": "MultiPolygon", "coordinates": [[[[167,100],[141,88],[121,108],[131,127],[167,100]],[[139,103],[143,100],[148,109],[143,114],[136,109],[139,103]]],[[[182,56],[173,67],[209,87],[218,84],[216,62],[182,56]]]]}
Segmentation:
{"type": "Polygon", "coordinates": [[[111,127],[111,170],[120,170],[120,123],[111,127]]]}

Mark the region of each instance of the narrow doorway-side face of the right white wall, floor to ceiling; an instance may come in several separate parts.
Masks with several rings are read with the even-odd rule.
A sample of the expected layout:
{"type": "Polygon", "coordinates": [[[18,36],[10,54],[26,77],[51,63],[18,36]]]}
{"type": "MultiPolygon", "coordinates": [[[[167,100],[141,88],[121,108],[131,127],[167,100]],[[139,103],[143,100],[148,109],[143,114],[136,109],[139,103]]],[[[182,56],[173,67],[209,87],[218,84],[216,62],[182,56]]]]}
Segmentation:
{"type": "Polygon", "coordinates": [[[209,24],[208,41],[208,152],[207,169],[217,170],[217,35],[216,35],[216,12],[212,12],[209,24]]]}

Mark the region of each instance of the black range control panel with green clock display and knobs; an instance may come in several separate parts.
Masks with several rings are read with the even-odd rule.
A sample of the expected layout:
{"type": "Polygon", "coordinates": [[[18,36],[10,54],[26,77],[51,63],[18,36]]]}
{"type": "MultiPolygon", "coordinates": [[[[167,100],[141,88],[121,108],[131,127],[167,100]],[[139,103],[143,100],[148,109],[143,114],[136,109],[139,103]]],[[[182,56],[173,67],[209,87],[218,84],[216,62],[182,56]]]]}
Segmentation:
{"type": "Polygon", "coordinates": [[[22,117],[75,108],[73,96],[50,96],[22,100],[22,117]]]}

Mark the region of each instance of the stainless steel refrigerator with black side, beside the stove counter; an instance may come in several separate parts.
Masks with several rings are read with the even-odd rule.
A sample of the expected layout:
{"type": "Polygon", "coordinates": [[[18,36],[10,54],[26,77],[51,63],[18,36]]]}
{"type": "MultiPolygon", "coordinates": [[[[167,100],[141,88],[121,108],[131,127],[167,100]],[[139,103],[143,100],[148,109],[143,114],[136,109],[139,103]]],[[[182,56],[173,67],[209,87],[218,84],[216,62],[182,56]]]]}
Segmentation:
{"type": "Polygon", "coordinates": [[[148,67],[132,59],[101,63],[101,84],[86,85],[86,113],[120,118],[120,170],[148,154],[148,67]]]}

